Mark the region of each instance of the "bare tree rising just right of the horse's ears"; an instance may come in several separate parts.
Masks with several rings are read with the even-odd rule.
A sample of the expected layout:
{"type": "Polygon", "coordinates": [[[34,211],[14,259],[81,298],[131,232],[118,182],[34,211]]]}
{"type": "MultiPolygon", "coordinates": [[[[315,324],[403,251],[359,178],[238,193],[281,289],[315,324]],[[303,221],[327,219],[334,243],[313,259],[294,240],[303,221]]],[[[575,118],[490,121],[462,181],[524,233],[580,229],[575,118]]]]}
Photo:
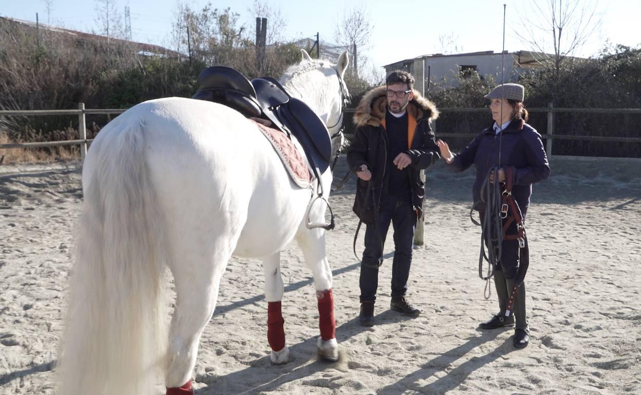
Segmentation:
{"type": "Polygon", "coordinates": [[[370,35],[374,30],[374,25],[370,24],[370,15],[367,12],[365,3],[358,2],[353,4],[351,9],[345,8],[343,14],[338,19],[335,29],[335,39],[338,44],[349,47],[351,63],[354,67],[354,76],[358,78],[359,58],[358,51],[367,49],[370,35]]]}

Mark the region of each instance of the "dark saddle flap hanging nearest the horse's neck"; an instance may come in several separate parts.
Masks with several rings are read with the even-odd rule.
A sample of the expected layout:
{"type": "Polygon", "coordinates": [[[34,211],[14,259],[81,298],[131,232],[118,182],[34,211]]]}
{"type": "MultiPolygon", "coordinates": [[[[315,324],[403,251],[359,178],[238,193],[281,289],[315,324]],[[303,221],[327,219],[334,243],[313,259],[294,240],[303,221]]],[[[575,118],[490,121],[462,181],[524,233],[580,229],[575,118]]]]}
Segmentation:
{"type": "Polygon", "coordinates": [[[325,124],[305,102],[290,98],[286,106],[278,108],[278,115],[283,123],[300,141],[308,156],[321,172],[329,167],[331,159],[331,138],[325,124]]]}

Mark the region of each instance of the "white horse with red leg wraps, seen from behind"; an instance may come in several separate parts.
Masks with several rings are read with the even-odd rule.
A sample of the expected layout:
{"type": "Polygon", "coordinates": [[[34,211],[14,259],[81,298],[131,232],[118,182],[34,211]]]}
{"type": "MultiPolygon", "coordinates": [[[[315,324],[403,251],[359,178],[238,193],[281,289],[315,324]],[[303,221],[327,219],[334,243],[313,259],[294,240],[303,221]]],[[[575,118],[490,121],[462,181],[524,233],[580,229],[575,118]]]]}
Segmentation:
{"type": "MultiPolygon", "coordinates": [[[[347,63],[346,51],[337,65],[303,51],[281,79],[330,134],[340,134],[347,63]]],[[[314,183],[328,193],[331,179],[328,169],[314,183]]],[[[231,255],[262,259],[271,360],[287,362],[279,252],[294,238],[317,290],[319,355],[337,360],[325,230],[306,227],[324,221],[325,204],[307,213],[316,188],[298,188],[258,127],[221,104],[147,101],[106,125],[83,165],[60,394],[149,394],[158,375],[167,394],[193,393],[199,339],[231,255]],[[166,268],[176,287],[171,324],[166,268]]]]}

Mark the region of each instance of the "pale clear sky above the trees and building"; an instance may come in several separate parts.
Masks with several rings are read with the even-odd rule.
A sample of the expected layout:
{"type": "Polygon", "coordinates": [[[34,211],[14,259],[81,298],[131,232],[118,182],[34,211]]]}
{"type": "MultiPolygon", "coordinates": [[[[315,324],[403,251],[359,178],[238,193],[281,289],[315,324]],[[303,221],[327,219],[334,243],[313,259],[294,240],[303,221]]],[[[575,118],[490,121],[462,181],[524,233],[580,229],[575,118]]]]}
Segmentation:
{"type": "MultiPolygon", "coordinates": [[[[175,48],[172,44],[172,22],[176,19],[179,0],[112,0],[123,15],[129,6],[132,39],[175,48]]],[[[256,0],[183,0],[192,10],[207,3],[214,8],[230,8],[240,14],[239,22],[253,30],[255,17],[250,10],[256,0]]],[[[546,4],[549,0],[539,0],[546,4]]],[[[572,0],[565,0],[569,3],[572,0]]],[[[600,22],[590,33],[590,41],[574,56],[596,56],[606,42],[631,47],[641,45],[640,0],[579,0],[588,6],[596,4],[600,22]]],[[[61,26],[68,29],[97,31],[97,0],[0,0],[0,16],[61,26]],[[47,4],[49,10],[47,11],[47,4]]],[[[363,6],[373,26],[369,47],[360,49],[369,58],[371,69],[431,53],[475,51],[501,52],[503,49],[503,4],[506,4],[506,51],[535,50],[516,31],[525,33],[524,25],[542,24],[532,11],[533,0],[262,0],[278,10],[285,21],[283,38],[299,39],[319,33],[322,41],[335,42],[335,26],[345,10],[363,6]],[[420,15],[420,18],[419,18],[420,15]],[[526,15],[527,19],[524,19],[526,15]],[[538,20],[537,20],[538,19],[538,20]],[[441,37],[451,40],[445,47],[441,37]]],[[[123,23],[124,25],[124,23],[123,23]]],[[[268,20],[268,29],[269,29],[268,20]]],[[[546,51],[553,52],[552,48],[546,51]]]]}

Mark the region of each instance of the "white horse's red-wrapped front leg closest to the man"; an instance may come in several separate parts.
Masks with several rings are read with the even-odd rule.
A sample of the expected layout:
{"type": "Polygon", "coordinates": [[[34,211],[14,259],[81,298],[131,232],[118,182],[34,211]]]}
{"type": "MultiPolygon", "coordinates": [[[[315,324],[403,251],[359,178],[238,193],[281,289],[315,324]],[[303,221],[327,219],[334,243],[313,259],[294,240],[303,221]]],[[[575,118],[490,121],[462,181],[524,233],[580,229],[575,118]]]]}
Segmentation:
{"type": "Polygon", "coordinates": [[[338,360],[338,343],[336,341],[332,275],[325,254],[325,231],[322,229],[301,230],[297,235],[297,241],[303,250],[306,266],[312,270],[316,288],[320,328],[320,337],[317,343],[318,353],[321,358],[335,362],[338,360]]]}

